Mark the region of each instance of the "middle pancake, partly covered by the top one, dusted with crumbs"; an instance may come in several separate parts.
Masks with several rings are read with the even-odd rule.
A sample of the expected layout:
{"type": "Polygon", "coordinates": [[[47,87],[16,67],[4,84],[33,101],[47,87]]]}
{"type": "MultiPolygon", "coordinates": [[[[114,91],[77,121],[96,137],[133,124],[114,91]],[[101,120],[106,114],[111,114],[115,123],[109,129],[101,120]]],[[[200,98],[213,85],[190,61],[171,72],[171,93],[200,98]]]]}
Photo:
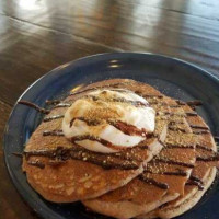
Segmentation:
{"type": "Polygon", "coordinates": [[[171,107],[164,149],[147,164],[139,177],[126,186],[95,199],[84,200],[83,204],[90,209],[116,218],[132,218],[184,194],[185,183],[195,163],[196,139],[185,119],[184,110],[174,100],[163,96],[147,101],[151,105],[159,103],[159,106],[171,107]],[[184,145],[189,147],[180,148],[184,145]],[[165,161],[175,161],[175,164],[165,161]]]}

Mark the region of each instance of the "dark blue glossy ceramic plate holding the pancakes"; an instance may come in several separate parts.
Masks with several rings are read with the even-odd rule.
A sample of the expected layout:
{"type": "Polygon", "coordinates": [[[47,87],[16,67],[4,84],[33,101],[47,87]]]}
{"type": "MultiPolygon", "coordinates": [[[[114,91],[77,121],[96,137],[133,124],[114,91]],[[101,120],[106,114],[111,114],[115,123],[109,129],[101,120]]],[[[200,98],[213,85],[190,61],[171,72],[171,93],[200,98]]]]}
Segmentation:
{"type": "MultiPolygon", "coordinates": [[[[71,88],[77,89],[110,78],[142,81],[183,101],[201,100],[204,105],[198,113],[204,116],[214,135],[219,132],[218,79],[196,66],[159,55],[116,53],[82,58],[51,70],[32,84],[20,99],[44,106],[46,100],[65,95],[71,88]]],[[[21,160],[12,155],[12,152],[23,151],[23,145],[41,119],[36,111],[15,104],[7,124],[5,163],[15,187],[30,206],[46,219],[93,218],[79,203],[57,205],[44,200],[27,184],[21,170],[21,160]]],[[[219,218],[219,185],[215,183],[192,210],[178,218],[219,218]]]]}

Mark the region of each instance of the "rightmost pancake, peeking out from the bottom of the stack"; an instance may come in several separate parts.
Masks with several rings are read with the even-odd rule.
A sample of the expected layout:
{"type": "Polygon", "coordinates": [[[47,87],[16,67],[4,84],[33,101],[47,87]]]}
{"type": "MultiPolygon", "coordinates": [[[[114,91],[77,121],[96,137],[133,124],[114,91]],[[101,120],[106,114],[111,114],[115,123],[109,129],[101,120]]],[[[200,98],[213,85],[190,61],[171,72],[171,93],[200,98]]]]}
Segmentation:
{"type": "MultiPolygon", "coordinates": [[[[189,106],[183,106],[186,111],[195,113],[189,106]]],[[[189,210],[201,198],[216,177],[216,166],[218,166],[217,147],[209,127],[198,115],[187,117],[187,122],[197,132],[196,145],[196,165],[193,169],[189,181],[185,185],[184,195],[173,201],[165,204],[163,207],[151,211],[139,218],[173,218],[189,210]],[[201,134],[203,132],[203,134],[201,134]],[[215,158],[215,161],[211,158],[215,158]]]]}

